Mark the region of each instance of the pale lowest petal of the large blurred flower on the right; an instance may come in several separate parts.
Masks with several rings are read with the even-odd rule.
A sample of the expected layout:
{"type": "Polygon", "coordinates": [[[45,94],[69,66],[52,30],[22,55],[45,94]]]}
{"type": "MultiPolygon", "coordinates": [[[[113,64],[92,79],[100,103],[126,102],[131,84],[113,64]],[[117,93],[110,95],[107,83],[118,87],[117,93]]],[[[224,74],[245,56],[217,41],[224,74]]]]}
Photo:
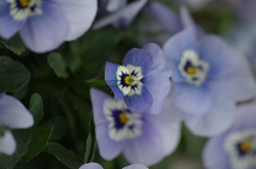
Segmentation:
{"type": "Polygon", "coordinates": [[[236,105],[225,98],[216,98],[203,115],[185,115],[185,124],[194,135],[215,136],[231,127],[236,105]]]}

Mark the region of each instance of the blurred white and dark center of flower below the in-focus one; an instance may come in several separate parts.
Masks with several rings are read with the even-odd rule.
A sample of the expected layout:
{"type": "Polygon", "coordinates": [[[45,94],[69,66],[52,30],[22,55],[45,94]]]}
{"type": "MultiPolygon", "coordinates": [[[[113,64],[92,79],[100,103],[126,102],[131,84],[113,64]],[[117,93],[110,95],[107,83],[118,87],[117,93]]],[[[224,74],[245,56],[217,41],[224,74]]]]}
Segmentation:
{"type": "Polygon", "coordinates": [[[142,134],[140,114],[127,109],[125,102],[107,99],[104,102],[104,116],[108,120],[109,137],[116,141],[134,138],[142,134]]]}

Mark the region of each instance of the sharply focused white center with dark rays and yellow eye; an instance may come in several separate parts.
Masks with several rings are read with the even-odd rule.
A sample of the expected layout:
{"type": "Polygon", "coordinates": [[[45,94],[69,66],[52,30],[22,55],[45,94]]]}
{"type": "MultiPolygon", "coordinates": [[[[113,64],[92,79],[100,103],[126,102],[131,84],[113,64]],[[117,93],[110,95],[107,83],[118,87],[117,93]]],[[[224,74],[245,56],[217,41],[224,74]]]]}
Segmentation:
{"type": "Polygon", "coordinates": [[[140,67],[132,66],[120,66],[117,69],[117,85],[124,95],[133,96],[134,94],[142,93],[141,79],[142,70],[140,67]]]}

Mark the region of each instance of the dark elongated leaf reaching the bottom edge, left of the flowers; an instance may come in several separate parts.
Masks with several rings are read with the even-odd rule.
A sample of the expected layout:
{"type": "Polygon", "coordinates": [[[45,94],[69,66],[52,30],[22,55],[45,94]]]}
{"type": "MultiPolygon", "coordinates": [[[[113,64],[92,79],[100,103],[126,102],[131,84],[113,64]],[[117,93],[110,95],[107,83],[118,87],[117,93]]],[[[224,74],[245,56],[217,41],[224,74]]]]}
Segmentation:
{"type": "Polygon", "coordinates": [[[54,155],[61,163],[69,168],[78,169],[83,165],[83,162],[80,161],[73,151],[67,150],[56,142],[49,142],[44,152],[54,155]]]}

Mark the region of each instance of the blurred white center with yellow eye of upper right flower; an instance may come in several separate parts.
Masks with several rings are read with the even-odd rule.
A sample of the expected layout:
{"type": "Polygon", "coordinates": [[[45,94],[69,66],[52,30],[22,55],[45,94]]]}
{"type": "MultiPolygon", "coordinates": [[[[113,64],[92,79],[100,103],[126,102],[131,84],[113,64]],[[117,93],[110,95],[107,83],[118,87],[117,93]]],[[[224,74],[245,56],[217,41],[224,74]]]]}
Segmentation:
{"type": "Polygon", "coordinates": [[[186,78],[187,83],[200,85],[207,77],[209,64],[200,60],[194,50],[185,50],[178,65],[181,75],[186,78]]]}

